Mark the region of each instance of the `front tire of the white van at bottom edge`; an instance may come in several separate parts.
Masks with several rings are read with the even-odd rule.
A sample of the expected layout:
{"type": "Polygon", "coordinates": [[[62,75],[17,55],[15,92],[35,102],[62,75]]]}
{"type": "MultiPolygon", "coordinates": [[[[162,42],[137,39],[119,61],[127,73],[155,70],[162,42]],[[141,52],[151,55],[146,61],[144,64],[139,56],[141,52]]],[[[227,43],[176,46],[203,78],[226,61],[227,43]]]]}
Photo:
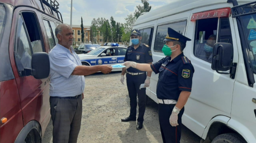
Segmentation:
{"type": "Polygon", "coordinates": [[[226,133],[215,137],[211,143],[246,143],[246,141],[235,133],[226,133]]]}

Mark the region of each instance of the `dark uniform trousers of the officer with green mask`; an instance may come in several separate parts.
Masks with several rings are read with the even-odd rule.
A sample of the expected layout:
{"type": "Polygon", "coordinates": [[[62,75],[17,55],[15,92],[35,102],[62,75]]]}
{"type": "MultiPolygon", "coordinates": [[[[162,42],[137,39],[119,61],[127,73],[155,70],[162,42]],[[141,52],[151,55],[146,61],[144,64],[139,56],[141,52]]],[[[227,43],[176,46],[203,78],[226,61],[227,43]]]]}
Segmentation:
{"type": "Polygon", "coordinates": [[[184,113],[184,107],[178,114],[178,126],[173,127],[170,124],[170,116],[176,104],[158,104],[158,117],[162,139],[164,143],[180,143],[181,138],[181,117],[184,113]]]}

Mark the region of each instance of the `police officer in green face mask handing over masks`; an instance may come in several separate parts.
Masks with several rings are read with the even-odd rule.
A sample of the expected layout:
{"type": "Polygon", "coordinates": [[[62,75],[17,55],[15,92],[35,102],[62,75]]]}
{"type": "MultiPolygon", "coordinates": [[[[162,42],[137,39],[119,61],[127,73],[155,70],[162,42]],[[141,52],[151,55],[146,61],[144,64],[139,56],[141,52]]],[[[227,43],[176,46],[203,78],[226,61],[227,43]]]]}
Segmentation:
{"type": "Polygon", "coordinates": [[[166,57],[148,65],[126,61],[123,65],[142,71],[159,73],[157,83],[158,116],[164,143],[180,143],[181,117],[190,96],[194,67],[183,54],[190,41],[168,27],[163,53],[166,57]]]}

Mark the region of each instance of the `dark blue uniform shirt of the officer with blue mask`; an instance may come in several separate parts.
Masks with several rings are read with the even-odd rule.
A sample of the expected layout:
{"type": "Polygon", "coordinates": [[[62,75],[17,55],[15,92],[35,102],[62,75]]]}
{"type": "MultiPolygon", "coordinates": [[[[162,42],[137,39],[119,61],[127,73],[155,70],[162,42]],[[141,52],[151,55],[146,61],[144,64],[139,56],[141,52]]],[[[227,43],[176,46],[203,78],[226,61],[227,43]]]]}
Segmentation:
{"type": "MultiPolygon", "coordinates": [[[[135,50],[132,44],[127,48],[124,61],[134,61],[136,63],[150,63],[153,61],[152,52],[149,46],[145,44],[140,44],[140,46],[135,50]]],[[[127,72],[131,73],[145,73],[144,71],[130,67],[127,72]]]]}

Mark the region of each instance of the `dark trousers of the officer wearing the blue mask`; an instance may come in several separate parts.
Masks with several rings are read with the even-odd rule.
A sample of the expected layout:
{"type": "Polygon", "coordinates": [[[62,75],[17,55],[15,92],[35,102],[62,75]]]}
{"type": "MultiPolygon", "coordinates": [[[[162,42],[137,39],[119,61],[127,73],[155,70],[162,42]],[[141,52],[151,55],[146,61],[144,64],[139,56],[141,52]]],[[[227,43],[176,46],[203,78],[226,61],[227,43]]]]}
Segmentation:
{"type": "Polygon", "coordinates": [[[136,119],[136,109],[137,109],[137,95],[138,95],[138,106],[139,115],[138,122],[144,121],[144,113],[146,110],[146,88],[139,89],[140,85],[145,82],[147,74],[131,75],[126,74],[127,89],[130,97],[130,116],[132,119],[136,119]]]}

